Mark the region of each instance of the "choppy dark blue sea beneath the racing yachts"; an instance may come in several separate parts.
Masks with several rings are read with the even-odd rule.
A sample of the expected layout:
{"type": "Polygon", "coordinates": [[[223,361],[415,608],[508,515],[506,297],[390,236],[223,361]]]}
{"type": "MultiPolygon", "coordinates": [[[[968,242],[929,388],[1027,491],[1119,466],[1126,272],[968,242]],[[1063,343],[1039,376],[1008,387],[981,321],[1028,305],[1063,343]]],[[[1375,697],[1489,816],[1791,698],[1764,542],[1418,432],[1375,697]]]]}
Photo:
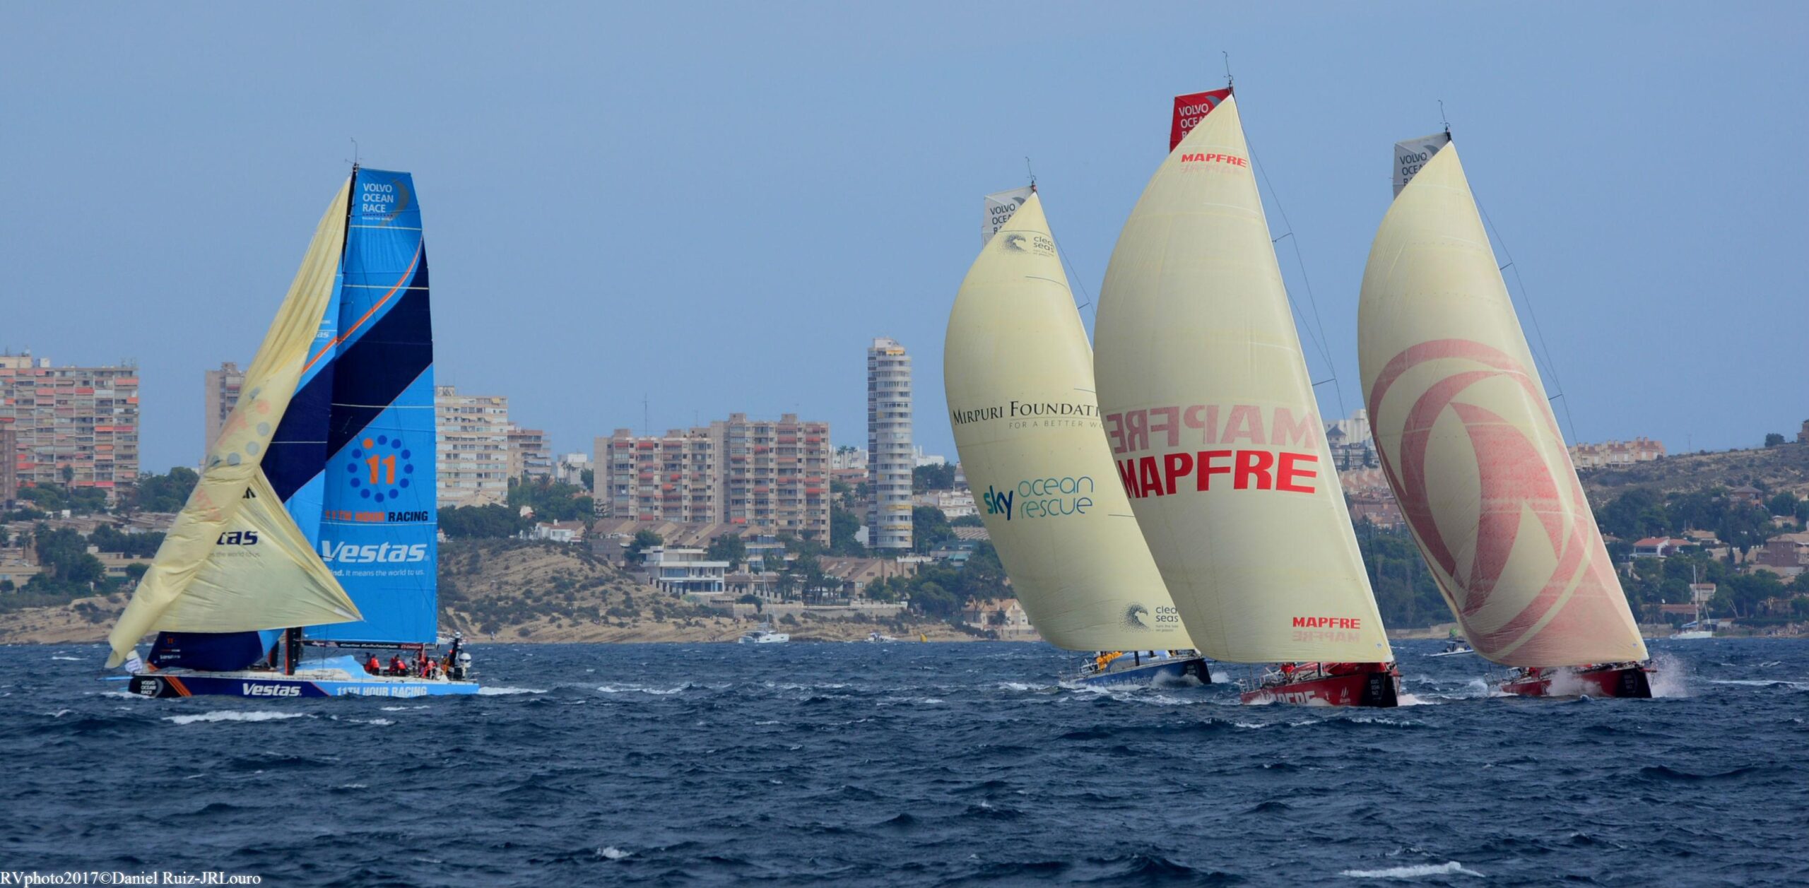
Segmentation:
{"type": "MultiPolygon", "coordinates": [[[[264,884],[1805,884],[1809,642],[1659,700],[1100,693],[1031,644],[474,646],[487,693],[137,700],[0,647],[0,870],[264,884]]],[[[1221,676],[1241,667],[1221,666],[1221,676]]]]}

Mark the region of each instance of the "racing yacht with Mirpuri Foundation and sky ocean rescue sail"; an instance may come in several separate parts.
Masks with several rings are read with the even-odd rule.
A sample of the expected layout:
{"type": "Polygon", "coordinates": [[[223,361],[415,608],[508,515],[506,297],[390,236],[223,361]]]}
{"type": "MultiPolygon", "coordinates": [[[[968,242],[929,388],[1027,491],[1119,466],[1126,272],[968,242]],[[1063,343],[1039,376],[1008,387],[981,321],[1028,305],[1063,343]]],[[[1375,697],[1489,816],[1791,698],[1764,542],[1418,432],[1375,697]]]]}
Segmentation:
{"type": "Polygon", "coordinates": [[[988,195],[942,345],[955,447],[1031,624],[1091,684],[1210,684],[1100,436],[1093,353],[1035,188],[988,195]],[[1125,653],[1129,651],[1129,653],[1125,653]]]}

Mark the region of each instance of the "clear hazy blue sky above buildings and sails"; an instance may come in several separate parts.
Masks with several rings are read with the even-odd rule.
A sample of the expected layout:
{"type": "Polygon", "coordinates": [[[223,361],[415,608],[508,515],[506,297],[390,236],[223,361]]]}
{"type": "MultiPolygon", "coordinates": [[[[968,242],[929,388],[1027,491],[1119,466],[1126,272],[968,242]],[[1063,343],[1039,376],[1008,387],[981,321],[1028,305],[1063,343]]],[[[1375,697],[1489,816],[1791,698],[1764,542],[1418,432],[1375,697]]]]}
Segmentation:
{"type": "Polygon", "coordinates": [[[888,335],[953,456],[980,195],[1029,156],[1096,295],[1221,51],[1346,409],[1389,148],[1444,99],[1577,438],[1809,418],[1805,4],[7,4],[0,347],[136,358],[145,467],[194,463],[201,373],[250,360],[355,137],[416,175],[440,380],[559,450],[642,396],[655,429],[801,412],[865,445],[888,335]]]}

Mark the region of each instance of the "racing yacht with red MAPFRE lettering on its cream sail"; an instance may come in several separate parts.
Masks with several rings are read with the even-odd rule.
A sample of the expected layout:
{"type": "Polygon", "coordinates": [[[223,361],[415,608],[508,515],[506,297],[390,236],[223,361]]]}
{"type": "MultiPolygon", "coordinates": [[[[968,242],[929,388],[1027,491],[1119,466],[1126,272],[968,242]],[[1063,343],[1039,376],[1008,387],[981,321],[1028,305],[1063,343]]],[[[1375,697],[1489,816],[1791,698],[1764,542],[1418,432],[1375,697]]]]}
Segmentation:
{"type": "Polygon", "coordinates": [[[1131,212],[1094,345],[1120,479],[1198,647],[1281,664],[1245,702],[1395,705],[1234,96],[1131,212]]]}

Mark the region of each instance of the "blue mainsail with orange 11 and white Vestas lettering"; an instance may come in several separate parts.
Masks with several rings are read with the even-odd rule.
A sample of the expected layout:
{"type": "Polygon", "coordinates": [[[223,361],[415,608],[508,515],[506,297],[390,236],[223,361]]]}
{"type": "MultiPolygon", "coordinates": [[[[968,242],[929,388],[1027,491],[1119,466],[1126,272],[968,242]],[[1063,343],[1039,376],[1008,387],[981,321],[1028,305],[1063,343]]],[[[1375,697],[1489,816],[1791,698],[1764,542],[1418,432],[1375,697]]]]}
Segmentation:
{"type": "MultiPolygon", "coordinates": [[[[364,620],[308,637],[432,644],[434,345],[421,210],[405,172],[353,177],[335,338],[315,546],[364,620]]],[[[288,503],[306,508],[306,492],[288,503]]]]}

